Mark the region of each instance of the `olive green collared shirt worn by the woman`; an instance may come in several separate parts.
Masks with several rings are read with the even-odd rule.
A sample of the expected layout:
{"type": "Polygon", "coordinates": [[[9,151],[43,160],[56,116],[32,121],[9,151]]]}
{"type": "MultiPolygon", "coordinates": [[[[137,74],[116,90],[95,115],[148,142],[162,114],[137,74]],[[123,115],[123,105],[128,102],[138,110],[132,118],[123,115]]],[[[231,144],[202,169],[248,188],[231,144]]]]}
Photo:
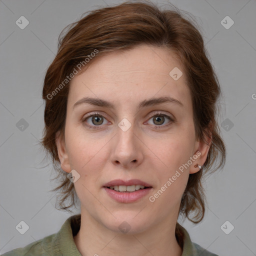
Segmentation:
{"type": "MultiPolygon", "coordinates": [[[[73,236],[77,234],[80,228],[81,214],[70,216],[62,224],[57,233],[45,236],[44,238],[31,242],[23,248],[16,248],[5,252],[2,256],[34,256],[34,255],[72,255],[81,256],[78,251],[73,236]]],[[[183,235],[182,256],[217,256],[214,253],[202,248],[197,243],[191,242],[188,232],[177,223],[181,234],[183,235]]],[[[100,254],[100,253],[99,253],[100,254]]]]}

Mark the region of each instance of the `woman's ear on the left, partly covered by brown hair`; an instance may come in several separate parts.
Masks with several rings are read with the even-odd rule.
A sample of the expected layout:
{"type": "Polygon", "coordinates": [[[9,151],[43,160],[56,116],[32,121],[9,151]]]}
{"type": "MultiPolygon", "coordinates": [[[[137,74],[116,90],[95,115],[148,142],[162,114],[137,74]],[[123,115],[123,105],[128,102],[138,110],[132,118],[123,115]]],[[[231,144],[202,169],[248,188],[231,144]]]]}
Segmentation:
{"type": "Polygon", "coordinates": [[[58,158],[59,158],[60,166],[61,166],[62,170],[66,171],[66,172],[70,172],[71,168],[70,168],[70,164],[69,164],[68,155],[66,152],[65,138],[64,138],[63,134],[60,134],[60,131],[56,132],[55,143],[57,146],[58,158]]]}

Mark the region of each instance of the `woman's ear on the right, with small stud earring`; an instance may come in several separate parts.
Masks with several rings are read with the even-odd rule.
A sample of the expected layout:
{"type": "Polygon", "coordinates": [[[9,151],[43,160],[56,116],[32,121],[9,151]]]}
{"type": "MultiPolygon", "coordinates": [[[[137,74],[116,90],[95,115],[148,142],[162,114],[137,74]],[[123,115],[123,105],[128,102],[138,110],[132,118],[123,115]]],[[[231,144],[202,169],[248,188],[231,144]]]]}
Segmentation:
{"type": "Polygon", "coordinates": [[[190,167],[190,170],[189,170],[190,174],[199,171],[200,168],[197,166],[197,164],[202,166],[206,161],[208,151],[212,142],[212,123],[211,122],[208,125],[208,127],[204,130],[203,135],[204,135],[204,141],[203,140],[196,141],[194,154],[198,155],[198,157],[190,167]],[[199,151],[200,154],[197,151],[199,151]]]}

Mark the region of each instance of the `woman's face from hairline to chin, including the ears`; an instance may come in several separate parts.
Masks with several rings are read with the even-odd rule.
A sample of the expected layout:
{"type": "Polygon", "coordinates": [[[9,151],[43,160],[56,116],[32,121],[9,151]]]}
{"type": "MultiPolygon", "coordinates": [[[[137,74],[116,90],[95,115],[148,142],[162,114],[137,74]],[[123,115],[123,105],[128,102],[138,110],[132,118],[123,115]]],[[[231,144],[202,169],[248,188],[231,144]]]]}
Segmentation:
{"type": "Polygon", "coordinates": [[[126,221],[131,233],[176,222],[189,173],[208,152],[196,140],[181,63],[146,45],[100,56],[71,80],[56,144],[62,169],[79,174],[81,213],[117,232],[126,221]]]}

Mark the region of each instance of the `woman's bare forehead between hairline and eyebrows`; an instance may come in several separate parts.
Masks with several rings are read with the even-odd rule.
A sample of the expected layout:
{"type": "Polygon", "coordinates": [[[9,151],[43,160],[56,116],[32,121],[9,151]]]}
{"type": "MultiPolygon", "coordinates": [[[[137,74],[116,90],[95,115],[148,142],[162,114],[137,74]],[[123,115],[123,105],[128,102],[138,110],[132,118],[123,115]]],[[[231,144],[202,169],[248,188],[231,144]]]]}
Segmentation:
{"type": "Polygon", "coordinates": [[[185,72],[177,56],[164,48],[140,45],[93,59],[84,72],[70,81],[68,104],[84,96],[115,101],[121,96],[122,102],[130,102],[154,95],[190,100],[185,72]]]}

